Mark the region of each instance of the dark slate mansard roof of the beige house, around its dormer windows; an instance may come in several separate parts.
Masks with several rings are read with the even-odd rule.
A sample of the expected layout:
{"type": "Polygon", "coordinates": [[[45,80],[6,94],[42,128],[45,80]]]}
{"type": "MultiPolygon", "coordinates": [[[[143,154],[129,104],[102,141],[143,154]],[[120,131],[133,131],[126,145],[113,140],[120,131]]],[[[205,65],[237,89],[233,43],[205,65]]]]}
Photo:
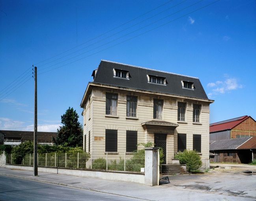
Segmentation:
{"type": "MultiPolygon", "coordinates": [[[[93,71],[93,75],[95,75],[95,71],[93,71]]],[[[93,82],[138,90],[208,99],[200,80],[196,77],[178,75],[175,73],[142,68],[129,64],[121,64],[107,60],[101,60],[93,82]],[[129,71],[129,79],[120,79],[114,77],[113,69],[129,71]],[[147,75],[166,78],[166,86],[148,83],[147,75]],[[182,88],[181,81],[193,82],[194,90],[182,88]]]]}

